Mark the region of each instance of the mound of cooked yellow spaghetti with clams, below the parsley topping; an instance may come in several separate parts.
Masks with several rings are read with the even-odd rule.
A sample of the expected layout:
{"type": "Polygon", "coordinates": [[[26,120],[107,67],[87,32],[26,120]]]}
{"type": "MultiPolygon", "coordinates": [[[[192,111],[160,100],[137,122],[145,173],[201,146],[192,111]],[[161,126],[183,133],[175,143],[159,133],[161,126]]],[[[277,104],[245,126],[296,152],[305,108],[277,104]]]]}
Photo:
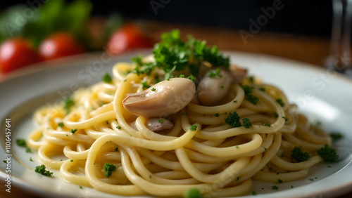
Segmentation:
{"type": "Polygon", "coordinates": [[[40,127],[27,145],[69,183],[119,195],[187,196],[197,189],[234,197],[248,194],[252,180],[305,178],[323,160],[317,150],[332,143],[327,133],[279,88],[238,67],[213,66],[201,62],[196,83],[173,78],[177,71],[158,82],[168,75],[160,68],[131,72],[136,64],[120,62],[111,81],[81,88],[70,105],[37,110],[40,127]],[[295,149],[309,157],[296,159],[295,149]],[[67,159],[51,157],[60,153],[67,159]]]}

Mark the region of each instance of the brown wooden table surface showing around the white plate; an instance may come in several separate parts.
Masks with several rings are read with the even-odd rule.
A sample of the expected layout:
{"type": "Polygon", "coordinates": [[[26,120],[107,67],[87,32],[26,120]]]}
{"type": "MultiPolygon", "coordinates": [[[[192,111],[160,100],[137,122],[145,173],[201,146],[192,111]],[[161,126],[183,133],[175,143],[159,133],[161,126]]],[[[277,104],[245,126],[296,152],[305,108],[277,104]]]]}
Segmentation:
{"type": "MultiPolygon", "coordinates": [[[[194,25],[169,24],[161,22],[137,21],[136,24],[143,32],[156,41],[161,33],[171,29],[180,29],[182,37],[192,34],[198,39],[206,39],[208,44],[217,45],[221,50],[244,51],[250,53],[264,53],[282,58],[289,58],[301,62],[308,62],[322,67],[329,55],[329,39],[304,37],[291,34],[277,34],[272,32],[258,32],[253,37],[241,38],[239,30],[220,29],[218,27],[199,27],[194,25]]],[[[0,197],[37,197],[11,185],[11,193],[5,192],[5,181],[0,180],[0,197]]],[[[352,191],[352,186],[351,186],[352,191]]],[[[352,197],[352,192],[340,197],[352,197]]]]}

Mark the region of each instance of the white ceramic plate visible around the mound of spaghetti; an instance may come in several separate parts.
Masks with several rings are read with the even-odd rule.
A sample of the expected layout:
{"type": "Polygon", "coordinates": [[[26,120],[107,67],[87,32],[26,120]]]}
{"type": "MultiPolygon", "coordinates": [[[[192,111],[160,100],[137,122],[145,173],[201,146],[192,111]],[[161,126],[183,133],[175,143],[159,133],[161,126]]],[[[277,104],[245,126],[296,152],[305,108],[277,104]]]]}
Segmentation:
{"type": "MultiPolygon", "coordinates": [[[[311,121],[320,121],[329,132],[344,134],[344,139],[335,144],[341,159],[339,162],[320,163],[310,169],[309,176],[302,180],[281,184],[254,182],[256,197],[336,197],[351,191],[352,133],[349,124],[352,121],[352,81],[302,62],[260,54],[227,53],[233,63],[248,68],[250,74],[282,88],[289,100],[298,104],[311,121]],[[272,190],[272,185],[279,186],[279,190],[272,190]]],[[[138,54],[146,54],[146,51],[117,58],[106,53],[78,55],[0,79],[0,156],[6,159],[4,121],[8,118],[11,119],[12,183],[43,196],[49,193],[51,197],[114,197],[89,187],[80,189],[77,185],[66,183],[58,171],[54,171],[51,178],[35,173],[34,168],[39,165],[37,154],[26,153],[23,147],[15,144],[15,140],[27,138],[34,129],[32,112],[37,107],[62,100],[77,86],[89,86],[100,81],[103,74],[111,73],[115,62],[130,61],[133,55],[138,54]]],[[[2,180],[6,178],[5,171],[6,164],[0,163],[2,180]]]]}

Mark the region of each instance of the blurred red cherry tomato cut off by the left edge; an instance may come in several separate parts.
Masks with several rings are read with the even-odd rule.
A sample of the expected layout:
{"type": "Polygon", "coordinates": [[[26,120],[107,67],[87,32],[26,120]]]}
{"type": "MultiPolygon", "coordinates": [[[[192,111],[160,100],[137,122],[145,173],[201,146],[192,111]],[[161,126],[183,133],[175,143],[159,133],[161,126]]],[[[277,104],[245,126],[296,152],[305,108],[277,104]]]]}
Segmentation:
{"type": "Polygon", "coordinates": [[[1,72],[10,72],[39,61],[40,58],[37,51],[35,51],[30,42],[25,39],[9,39],[0,46],[1,72]]]}

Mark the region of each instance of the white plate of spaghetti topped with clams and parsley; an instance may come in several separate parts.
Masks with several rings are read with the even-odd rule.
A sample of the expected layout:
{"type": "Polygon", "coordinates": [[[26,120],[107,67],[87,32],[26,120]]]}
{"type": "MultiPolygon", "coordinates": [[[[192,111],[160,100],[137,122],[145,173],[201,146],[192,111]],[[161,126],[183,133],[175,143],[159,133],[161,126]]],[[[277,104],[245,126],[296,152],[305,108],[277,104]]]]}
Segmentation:
{"type": "Polygon", "coordinates": [[[352,185],[352,81],[180,32],[147,51],[0,82],[0,176],[56,197],[338,196],[352,185]],[[5,94],[6,93],[6,94],[5,94]],[[10,164],[10,165],[8,165],[10,164]]]}

